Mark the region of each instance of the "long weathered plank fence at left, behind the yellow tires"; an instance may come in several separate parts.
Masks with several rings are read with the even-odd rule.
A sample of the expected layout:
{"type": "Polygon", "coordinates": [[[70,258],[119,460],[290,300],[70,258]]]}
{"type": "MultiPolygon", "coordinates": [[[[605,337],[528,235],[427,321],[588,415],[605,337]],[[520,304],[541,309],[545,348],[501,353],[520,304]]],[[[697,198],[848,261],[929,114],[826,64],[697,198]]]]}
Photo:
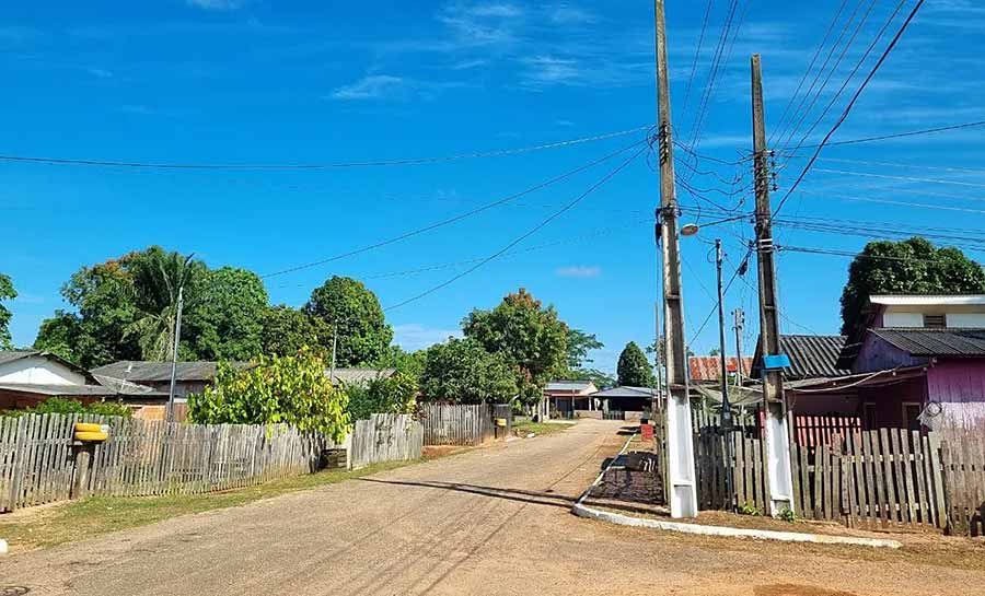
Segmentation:
{"type": "Polygon", "coordinates": [[[85,494],[192,494],[314,471],[326,437],[285,424],[190,425],[94,416],[0,418],[0,512],[72,496],[76,422],[109,425],[92,448],[85,494]]]}

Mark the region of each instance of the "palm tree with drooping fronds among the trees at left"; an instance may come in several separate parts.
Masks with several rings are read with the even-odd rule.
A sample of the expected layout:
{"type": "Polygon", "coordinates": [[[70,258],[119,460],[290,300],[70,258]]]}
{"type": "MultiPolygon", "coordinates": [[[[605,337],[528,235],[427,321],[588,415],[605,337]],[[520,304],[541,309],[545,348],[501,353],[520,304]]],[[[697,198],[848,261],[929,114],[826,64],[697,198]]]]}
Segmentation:
{"type": "Polygon", "coordinates": [[[193,256],[154,246],[129,264],[140,316],[125,335],[136,336],[144,360],[169,361],[174,355],[178,294],[184,288],[185,303],[194,303],[201,278],[202,265],[193,256]]]}

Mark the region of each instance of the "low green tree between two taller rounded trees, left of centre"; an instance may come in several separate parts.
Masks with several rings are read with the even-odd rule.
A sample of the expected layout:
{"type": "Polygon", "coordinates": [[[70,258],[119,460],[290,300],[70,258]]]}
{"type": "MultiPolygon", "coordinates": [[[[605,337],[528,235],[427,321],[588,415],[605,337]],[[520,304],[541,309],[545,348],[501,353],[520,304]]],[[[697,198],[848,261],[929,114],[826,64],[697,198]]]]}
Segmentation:
{"type": "Polygon", "coordinates": [[[260,317],[262,353],[292,355],[303,348],[331,357],[332,325],[321,317],[283,304],[264,311],[260,317]]]}

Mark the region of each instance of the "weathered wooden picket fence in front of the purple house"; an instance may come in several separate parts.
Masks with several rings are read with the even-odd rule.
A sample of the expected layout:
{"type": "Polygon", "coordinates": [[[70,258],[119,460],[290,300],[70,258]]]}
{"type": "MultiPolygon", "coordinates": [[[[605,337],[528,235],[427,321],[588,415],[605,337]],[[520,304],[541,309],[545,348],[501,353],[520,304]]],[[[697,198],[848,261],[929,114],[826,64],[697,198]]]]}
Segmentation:
{"type": "MultiPolygon", "coordinates": [[[[835,433],[828,443],[813,447],[795,443],[790,453],[793,507],[801,517],[837,521],[850,527],[943,528],[949,517],[941,464],[946,453],[937,435],[905,429],[856,431],[844,436],[835,433]]],[[[976,453],[977,467],[952,467],[982,474],[982,452],[976,453]]],[[[695,455],[702,509],[746,505],[767,510],[761,440],[742,433],[726,439],[717,429],[707,429],[695,437],[695,455]],[[731,461],[725,457],[725,441],[732,442],[731,461]],[[733,493],[726,490],[728,472],[734,482],[733,493]]],[[[951,482],[951,490],[953,486],[951,482]]],[[[983,494],[970,491],[967,502],[978,503],[976,496],[983,494]]],[[[973,516],[972,505],[965,510],[964,515],[973,516]]]]}

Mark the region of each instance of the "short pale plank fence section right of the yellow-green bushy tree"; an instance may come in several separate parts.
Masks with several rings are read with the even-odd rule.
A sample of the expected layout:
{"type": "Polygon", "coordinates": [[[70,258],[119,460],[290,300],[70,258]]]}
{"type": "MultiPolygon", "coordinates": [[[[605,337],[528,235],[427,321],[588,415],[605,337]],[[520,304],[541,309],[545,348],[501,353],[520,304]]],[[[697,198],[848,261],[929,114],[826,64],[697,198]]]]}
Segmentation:
{"type": "Polygon", "coordinates": [[[410,414],[374,413],[357,420],[352,431],[350,461],[362,468],[382,461],[420,457],[424,426],[410,414]]]}

